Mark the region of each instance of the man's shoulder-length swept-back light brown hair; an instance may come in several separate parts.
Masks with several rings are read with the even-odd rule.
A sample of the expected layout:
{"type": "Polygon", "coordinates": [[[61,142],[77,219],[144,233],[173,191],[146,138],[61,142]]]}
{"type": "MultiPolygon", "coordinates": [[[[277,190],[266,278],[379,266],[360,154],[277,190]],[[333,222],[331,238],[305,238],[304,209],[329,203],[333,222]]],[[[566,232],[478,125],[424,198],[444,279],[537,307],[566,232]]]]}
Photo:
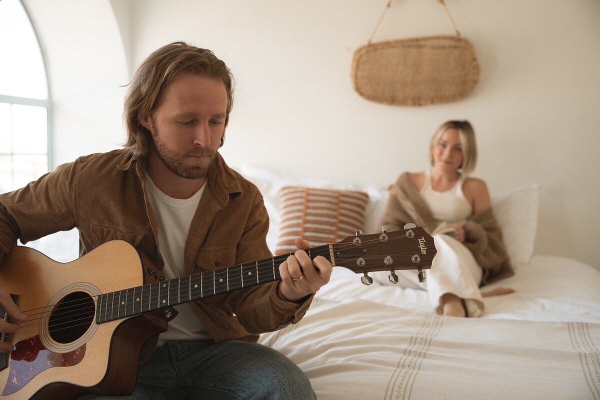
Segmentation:
{"type": "MultiPolygon", "coordinates": [[[[164,88],[183,73],[199,74],[223,82],[227,91],[224,122],[224,126],[227,127],[233,106],[233,76],[229,68],[211,50],[176,41],[149,55],[137,68],[129,84],[123,113],[127,130],[124,147],[133,155],[148,154],[152,145],[152,134],[140,121],[152,117],[164,88]]],[[[220,146],[223,146],[224,139],[223,135],[220,146]]]]}

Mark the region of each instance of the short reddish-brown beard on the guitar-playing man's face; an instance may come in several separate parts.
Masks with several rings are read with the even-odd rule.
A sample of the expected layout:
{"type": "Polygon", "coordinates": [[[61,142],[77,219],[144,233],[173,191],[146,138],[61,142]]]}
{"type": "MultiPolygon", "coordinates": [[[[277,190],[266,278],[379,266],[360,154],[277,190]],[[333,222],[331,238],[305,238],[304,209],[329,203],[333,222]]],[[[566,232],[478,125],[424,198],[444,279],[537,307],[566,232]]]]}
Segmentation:
{"type": "Polygon", "coordinates": [[[212,163],[215,161],[217,152],[212,149],[206,149],[203,147],[197,147],[185,152],[176,152],[167,146],[166,143],[160,138],[158,130],[152,121],[152,139],[154,139],[154,150],[160,161],[164,164],[167,169],[173,172],[177,176],[185,179],[200,179],[205,178],[208,175],[208,170],[212,163]],[[191,157],[201,157],[198,160],[190,162],[191,157]]]}

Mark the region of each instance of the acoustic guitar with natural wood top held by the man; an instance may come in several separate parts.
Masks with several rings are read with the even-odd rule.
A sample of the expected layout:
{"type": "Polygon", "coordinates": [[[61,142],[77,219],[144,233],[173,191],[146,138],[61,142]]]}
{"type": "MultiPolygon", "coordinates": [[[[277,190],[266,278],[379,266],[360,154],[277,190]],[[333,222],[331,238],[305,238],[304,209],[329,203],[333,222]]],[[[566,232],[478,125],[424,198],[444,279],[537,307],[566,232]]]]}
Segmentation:
{"type": "MultiPolygon", "coordinates": [[[[370,284],[368,272],[388,270],[397,282],[394,270],[430,268],[436,249],[431,236],[415,227],[358,231],[307,253],[360,273],[370,284]]],[[[172,306],[277,281],[288,255],[157,280],[149,260],[124,240],[106,242],[70,263],[13,246],[0,265],[0,284],[28,320],[13,335],[2,333],[14,350],[0,353],[0,398],[128,395],[142,345],[167,329],[176,314],[172,306]]],[[[11,321],[4,311],[0,316],[11,321]]]]}

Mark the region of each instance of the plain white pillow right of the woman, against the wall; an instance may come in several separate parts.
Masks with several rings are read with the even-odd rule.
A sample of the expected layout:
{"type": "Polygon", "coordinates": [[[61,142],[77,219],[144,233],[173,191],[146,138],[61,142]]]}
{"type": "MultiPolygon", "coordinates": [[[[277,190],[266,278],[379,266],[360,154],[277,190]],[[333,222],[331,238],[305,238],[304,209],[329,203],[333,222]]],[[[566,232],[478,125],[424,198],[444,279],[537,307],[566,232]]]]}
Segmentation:
{"type": "Polygon", "coordinates": [[[491,201],[512,267],[529,263],[538,228],[539,185],[530,184],[491,201]]]}

